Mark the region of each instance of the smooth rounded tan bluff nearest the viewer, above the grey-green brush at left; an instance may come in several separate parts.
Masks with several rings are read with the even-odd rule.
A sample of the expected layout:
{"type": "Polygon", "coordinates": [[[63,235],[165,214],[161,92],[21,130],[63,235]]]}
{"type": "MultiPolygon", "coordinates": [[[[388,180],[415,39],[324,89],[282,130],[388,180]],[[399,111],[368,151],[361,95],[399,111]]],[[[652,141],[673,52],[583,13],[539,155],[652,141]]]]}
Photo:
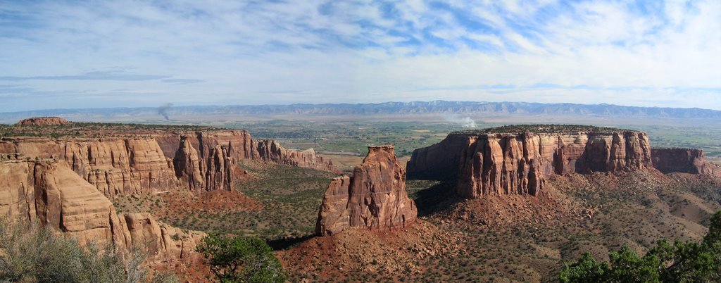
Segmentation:
{"type": "Polygon", "coordinates": [[[146,214],[118,215],[110,199],[56,161],[2,161],[0,215],[10,222],[39,221],[79,243],[143,248],[153,261],[181,259],[203,236],[185,232],[146,214]]]}

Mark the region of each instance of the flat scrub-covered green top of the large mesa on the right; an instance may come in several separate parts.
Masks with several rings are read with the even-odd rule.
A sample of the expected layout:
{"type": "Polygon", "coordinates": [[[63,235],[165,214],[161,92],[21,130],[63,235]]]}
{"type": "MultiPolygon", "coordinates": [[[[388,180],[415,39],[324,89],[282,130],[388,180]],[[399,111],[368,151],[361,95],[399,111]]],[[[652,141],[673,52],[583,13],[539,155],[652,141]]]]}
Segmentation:
{"type": "Polygon", "coordinates": [[[518,134],[523,132],[550,133],[550,134],[612,134],[614,132],[638,132],[636,130],[618,129],[614,127],[597,127],[590,125],[506,125],[501,127],[488,127],[479,130],[459,130],[451,135],[488,135],[488,134],[518,134]]]}

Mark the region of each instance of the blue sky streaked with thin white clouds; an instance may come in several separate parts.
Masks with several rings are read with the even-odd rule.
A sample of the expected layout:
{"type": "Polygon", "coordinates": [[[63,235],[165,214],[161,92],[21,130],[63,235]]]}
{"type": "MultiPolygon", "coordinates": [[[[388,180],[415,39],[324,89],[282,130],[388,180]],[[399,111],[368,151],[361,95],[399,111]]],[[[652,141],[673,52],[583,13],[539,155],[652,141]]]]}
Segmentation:
{"type": "Polygon", "coordinates": [[[0,112],[571,102],[721,110],[721,1],[0,0],[0,112]]]}

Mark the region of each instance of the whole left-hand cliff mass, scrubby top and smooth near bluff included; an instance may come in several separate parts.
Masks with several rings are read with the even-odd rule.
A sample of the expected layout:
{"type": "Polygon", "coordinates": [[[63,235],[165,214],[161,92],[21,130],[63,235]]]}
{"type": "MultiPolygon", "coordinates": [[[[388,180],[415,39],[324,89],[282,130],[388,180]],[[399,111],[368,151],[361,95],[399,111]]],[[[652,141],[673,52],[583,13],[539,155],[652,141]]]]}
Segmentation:
{"type": "Polygon", "coordinates": [[[40,223],[82,245],[140,248],[151,263],[198,256],[195,246],[205,233],[174,228],[145,212],[118,212],[115,197],[231,191],[249,174],[238,166],[243,160],[337,172],[312,150],[291,151],[273,140],[254,140],[244,130],[97,125],[53,117],[12,127],[30,130],[0,138],[0,215],[13,223],[40,223]]]}

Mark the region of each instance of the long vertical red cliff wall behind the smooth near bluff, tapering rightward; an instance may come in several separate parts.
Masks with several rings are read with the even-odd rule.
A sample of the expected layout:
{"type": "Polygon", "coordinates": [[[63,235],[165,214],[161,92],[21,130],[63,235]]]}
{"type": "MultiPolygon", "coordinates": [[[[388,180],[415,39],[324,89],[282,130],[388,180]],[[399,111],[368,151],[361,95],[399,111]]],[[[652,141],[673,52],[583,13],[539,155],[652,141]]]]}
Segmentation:
{"type": "Polygon", "coordinates": [[[314,151],[289,151],[246,131],[165,132],[143,138],[2,138],[0,154],[63,161],[107,197],[164,192],[230,190],[242,159],[335,171],[314,151]]]}

